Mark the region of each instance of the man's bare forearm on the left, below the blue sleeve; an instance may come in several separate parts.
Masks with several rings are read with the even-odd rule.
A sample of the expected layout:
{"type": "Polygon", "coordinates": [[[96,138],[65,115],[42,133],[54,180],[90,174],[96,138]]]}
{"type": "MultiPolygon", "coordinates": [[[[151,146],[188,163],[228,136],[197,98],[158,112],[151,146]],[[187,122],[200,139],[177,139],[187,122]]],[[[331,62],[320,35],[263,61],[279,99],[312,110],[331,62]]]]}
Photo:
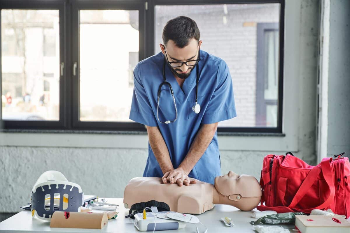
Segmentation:
{"type": "Polygon", "coordinates": [[[168,147],[165,144],[162,134],[158,127],[146,126],[149,144],[151,145],[153,154],[157,159],[163,174],[169,170],[173,170],[173,164],[170,160],[168,147]]]}

